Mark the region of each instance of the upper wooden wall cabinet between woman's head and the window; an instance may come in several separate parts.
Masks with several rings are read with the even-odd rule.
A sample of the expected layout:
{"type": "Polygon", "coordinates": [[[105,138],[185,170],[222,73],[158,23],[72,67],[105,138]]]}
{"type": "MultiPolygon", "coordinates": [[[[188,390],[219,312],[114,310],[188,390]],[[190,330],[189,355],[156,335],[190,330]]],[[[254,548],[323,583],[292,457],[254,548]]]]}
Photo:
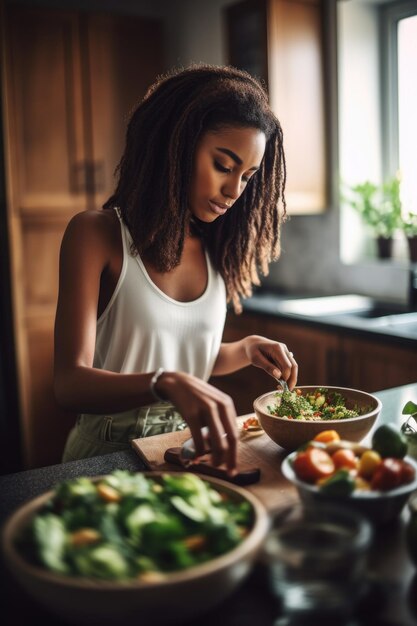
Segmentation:
{"type": "Polygon", "coordinates": [[[330,5],[243,0],[226,8],[229,61],[265,81],[283,128],[289,214],[321,213],[328,204],[324,25],[330,5]]]}

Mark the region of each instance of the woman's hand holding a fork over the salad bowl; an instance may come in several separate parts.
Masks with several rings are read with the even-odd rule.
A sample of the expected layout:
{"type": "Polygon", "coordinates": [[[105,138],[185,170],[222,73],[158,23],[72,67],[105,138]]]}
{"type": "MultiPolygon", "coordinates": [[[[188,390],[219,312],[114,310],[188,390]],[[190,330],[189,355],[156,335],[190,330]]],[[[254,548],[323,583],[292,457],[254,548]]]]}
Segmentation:
{"type": "Polygon", "coordinates": [[[294,355],[285,343],[272,341],[259,335],[249,335],[244,339],[246,356],[249,362],[264,369],[270,376],[287,381],[292,390],[297,383],[298,365],[294,355]]]}

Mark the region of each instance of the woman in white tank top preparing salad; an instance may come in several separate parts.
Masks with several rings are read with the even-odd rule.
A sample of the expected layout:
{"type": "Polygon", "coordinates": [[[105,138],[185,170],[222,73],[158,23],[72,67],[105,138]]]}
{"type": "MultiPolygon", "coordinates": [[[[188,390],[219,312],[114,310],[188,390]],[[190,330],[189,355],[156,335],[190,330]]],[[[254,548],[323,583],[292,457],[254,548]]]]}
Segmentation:
{"type": "Polygon", "coordinates": [[[285,344],[221,343],[226,299],[279,254],[282,132],[249,74],[193,66],[150,87],[130,120],[116,190],[61,248],[55,393],[80,415],[64,460],[188,425],[197,454],[236,465],[232,399],[206,381],[249,364],[293,388],[285,344]]]}

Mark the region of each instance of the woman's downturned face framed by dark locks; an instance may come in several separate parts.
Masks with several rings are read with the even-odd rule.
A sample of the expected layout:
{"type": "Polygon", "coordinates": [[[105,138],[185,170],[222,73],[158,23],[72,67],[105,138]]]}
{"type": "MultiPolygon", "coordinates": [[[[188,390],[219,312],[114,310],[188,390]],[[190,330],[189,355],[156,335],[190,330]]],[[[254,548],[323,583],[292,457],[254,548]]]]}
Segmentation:
{"type": "Polygon", "coordinates": [[[191,213],[203,222],[224,215],[259,169],[265,145],[265,134],[257,128],[229,126],[204,133],[194,156],[191,213]]]}

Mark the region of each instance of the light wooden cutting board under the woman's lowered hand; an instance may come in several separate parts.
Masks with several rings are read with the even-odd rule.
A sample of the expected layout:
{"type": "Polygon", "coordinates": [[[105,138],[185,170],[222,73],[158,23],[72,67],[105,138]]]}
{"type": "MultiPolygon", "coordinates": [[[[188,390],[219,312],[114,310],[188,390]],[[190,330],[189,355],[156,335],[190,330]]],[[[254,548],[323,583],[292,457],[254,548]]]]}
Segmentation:
{"type": "MultiPolygon", "coordinates": [[[[297,490],[283,477],[280,469],[286,452],[262,431],[261,433],[243,431],[242,424],[248,417],[252,417],[252,414],[238,417],[240,432],[238,468],[240,466],[259,467],[261,478],[258,483],[249,485],[245,489],[255,494],[268,511],[280,510],[298,501],[297,490]]],[[[151,470],[184,471],[178,465],[167,463],[164,460],[164,454],[167,448],[181,446],[190,436],[189,429],[186,429],[165,435],[133,439],[132,446],[151,470]]]]}

